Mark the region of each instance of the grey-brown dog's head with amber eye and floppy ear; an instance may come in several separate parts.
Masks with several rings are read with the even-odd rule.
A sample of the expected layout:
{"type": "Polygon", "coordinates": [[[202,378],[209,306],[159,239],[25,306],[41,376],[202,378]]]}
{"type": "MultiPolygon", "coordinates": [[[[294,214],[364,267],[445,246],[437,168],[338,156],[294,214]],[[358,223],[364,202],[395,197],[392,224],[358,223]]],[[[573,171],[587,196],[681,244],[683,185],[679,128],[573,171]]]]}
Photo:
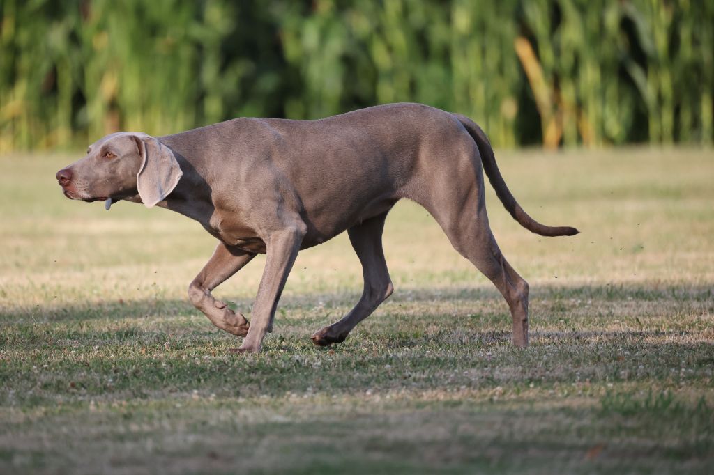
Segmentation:
{"type": "Polygon", "coordinates": [[[91,144],[86,157],[59,170],[56,178],[71,200],[109,206],[139,195],[151,208],[176,188],[181,175],[169,147],[146,133],[119,132],[91,144]]]}

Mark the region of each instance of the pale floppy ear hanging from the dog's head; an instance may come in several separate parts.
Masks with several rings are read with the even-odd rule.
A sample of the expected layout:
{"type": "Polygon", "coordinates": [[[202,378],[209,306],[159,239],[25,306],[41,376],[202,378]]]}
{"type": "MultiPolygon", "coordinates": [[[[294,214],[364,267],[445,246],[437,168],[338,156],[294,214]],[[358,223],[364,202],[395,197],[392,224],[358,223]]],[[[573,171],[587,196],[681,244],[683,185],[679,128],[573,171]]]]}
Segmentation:
{"type": "Polygon", "coordinates": [[[135,134],[141,167],[136,175],[136,188],[141,202],[151,208],[176,188],[183,172],[169,147],[146,133],[135,134]]]}

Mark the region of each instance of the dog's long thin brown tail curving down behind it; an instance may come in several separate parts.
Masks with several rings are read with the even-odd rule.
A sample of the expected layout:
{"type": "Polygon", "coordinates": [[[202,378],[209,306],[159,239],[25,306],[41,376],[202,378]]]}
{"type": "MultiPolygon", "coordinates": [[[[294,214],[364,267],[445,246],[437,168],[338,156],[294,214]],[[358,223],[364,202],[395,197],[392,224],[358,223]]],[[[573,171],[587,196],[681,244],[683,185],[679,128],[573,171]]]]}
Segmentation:
{"type": "Polygon", "coordinates": [[[511,213],[514,220],[518,221],[523,228],[526,228],[532,233],[540,234],[541,236],[572,236],[580,233],[580,231],[575,228],[570,228],[570,226],[546,226],[531,218],[531,216],[521,208],[516,198],[513,198],[511,190],[508,190],[506,182],[503,181],[503,176],[501,176],[498,165],[496,165],[496,156],[493,155],[493,148],[491,148],[491,142],[488,141],[486,133],[470,118],[462,116],[461,114],[454,114],[454,116],[466,127],[473,141],[476,142],[478,153],[481,154],[483,170],[486,172],[486,176],[488,176],[488,181],[491,182],[491,186],[496,190],[498,199],[501,200],[501,203],[503,203],[508,213],[511,213]]]}

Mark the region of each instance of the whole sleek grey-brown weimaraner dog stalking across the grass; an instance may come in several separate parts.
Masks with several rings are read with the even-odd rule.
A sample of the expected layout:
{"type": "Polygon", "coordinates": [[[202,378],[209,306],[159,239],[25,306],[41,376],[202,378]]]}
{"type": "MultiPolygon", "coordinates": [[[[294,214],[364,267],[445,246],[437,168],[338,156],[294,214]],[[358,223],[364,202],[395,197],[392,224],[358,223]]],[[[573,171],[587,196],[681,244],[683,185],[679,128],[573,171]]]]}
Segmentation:
{"type": "Polygon", "coordinates": [[[245,337],[232,352],[258,352],[296,255],[347,230],[364,275],[357,305],[313,334],[343,342],[392,293],[382,250],[384,219],[401,198],[436,218],[458,252],[505,297],[513,344],[528,345],[528,283],[508,265],[486,216],[483,170],[524,228],[544,236],[575,228],[542,225],[504,183],[476,123],[420,104],[390,104],[318,121],[236,118],[172,136],[113,133],[56,175],[73,200],[159,205],[193,218],[218,239],[213,257],[188,287],[213,325],[245,337]],[[211,291],[267,254],[251,323],[211,291]]]}

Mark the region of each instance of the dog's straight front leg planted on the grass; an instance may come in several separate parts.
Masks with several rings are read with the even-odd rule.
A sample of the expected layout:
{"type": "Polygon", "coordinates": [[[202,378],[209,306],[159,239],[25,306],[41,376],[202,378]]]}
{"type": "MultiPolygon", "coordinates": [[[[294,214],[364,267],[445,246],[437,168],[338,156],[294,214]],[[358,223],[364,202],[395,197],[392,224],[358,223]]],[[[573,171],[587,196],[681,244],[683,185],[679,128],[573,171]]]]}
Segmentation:
{"type": "Polygon", "coordinates": [[[266,240],[266,267],[258,287],[256,302],[253,304],[251,327],[241,347],[231,349],[231,352],[256,353],[261,350],[263,337],[273,328],[278,299],[304,236],[304,229],[288,228],[271,233],[266,240]]]}

